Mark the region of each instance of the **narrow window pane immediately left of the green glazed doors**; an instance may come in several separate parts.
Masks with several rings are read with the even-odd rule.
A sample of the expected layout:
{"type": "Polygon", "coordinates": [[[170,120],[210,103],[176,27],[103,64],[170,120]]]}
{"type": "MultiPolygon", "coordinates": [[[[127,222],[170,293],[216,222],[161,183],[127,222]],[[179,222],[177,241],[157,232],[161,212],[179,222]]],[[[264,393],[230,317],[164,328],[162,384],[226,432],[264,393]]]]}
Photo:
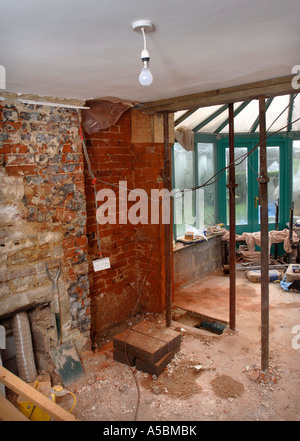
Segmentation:
{"type": "MultiPolygon", "coordinates": [[[[205,184],[215,173],[214,145],[212,143],[198,143],[198,182],[205,184]]],[[[212,179],[213,181],[214,179],[212,179]]],[[[198,227],[202,228],[215,224],[215,184],[203,187],[197,194],[199,198],[198,227]],[[202,204],[201,204],[202,202],[202,204]],[[201,206],[202,205],[202,206],[201,206]]]]}

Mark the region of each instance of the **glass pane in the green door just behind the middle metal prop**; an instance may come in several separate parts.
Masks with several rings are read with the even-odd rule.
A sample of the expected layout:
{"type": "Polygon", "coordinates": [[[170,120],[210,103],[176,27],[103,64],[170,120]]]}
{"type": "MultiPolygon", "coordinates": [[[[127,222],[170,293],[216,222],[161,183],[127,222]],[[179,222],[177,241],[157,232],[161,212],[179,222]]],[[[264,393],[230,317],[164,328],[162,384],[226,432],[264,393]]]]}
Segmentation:
{"type": "MultiPolygon", "coordinates": [[[[246,225],[248,223],[248,158],[244,161],[237,161],[248,153],[247,147],[235,147],[234,159],[235,182],[238,186],[235,189],[235,216],[236,225],[246,225]],[[239,164],[239,162],[241,162],[239,164]]],[[[229,165],[229,148],[226,148],[226,166],[229,165]]],[[[226,182],[229,182],[229,169],[226,169],[226,182]]],[[[227,210],[226,223],[229,224],[229,190],[226,192],[227,210]]]]}

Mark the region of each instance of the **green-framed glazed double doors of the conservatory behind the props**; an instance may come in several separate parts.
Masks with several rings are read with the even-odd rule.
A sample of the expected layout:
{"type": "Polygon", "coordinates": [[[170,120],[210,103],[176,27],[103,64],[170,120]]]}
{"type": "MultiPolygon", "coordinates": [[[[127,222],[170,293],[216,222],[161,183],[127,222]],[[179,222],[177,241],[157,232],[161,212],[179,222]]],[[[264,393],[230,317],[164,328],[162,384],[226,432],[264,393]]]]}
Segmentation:
{"type": "MultiPolygon", "coordinates": [[[[236,232],[255,232],[260,230],[260,204],[259,204],[259,147],[255,148],[258,140],[245,140],[235,142],[235,180],[238,184],[235,192],[236,202],[236,232]],[[253,150],[254,149],[254,150],[253,150]]],[[[279,224],[286,212],[288,197],[285,195],[283,182],[286,160],[283,155],[284,143],[280,140],[267,146],[268,168],[268,213],[269,230],[275,229],[276,205],[279,205],[279,224]]],[[[220,142],[218,147],[220,168],[229,165],[228,141],[220,142]]],[[[220,169],[219,168],[219,169],[220,169]]],[[[223,173],[219,180],[219,218],[221,222],[229,225],[229,171],[223,173]]]]}

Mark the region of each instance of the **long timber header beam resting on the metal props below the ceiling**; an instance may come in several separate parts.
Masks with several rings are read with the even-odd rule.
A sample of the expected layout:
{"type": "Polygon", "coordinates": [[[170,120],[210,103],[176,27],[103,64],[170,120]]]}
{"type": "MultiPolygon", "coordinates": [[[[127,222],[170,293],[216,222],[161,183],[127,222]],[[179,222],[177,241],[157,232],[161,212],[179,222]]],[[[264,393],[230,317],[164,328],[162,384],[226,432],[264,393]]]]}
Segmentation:
{"type": "Polygon", "coordinates": [[[295,93],[292,86],[294,75],[243,84],[241,86],[199,92],[158,101],[137,104],[135,107],[147,113],[177,112],[178,110],[230,104],[238,101],[266,98],[295,93]]]}

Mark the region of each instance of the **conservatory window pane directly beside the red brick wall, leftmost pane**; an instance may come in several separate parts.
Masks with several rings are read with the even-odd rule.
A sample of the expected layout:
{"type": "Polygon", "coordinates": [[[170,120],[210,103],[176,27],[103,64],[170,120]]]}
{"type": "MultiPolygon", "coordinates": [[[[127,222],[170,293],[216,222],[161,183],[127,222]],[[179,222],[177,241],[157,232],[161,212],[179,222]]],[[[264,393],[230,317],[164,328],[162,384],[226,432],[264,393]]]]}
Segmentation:
{"type": "MultiPolygon", "coordinates": [[[[195,186],[194,152],[188,152],[176,142],[174,144],[174,176],[175,189],[185,190],[195,186]]],[[[194,192],[185,192],[183,197],[176,194],[173,199],[174,223],[176,239],[185,234],[185,224],[193,225],[194,192]]]]}

